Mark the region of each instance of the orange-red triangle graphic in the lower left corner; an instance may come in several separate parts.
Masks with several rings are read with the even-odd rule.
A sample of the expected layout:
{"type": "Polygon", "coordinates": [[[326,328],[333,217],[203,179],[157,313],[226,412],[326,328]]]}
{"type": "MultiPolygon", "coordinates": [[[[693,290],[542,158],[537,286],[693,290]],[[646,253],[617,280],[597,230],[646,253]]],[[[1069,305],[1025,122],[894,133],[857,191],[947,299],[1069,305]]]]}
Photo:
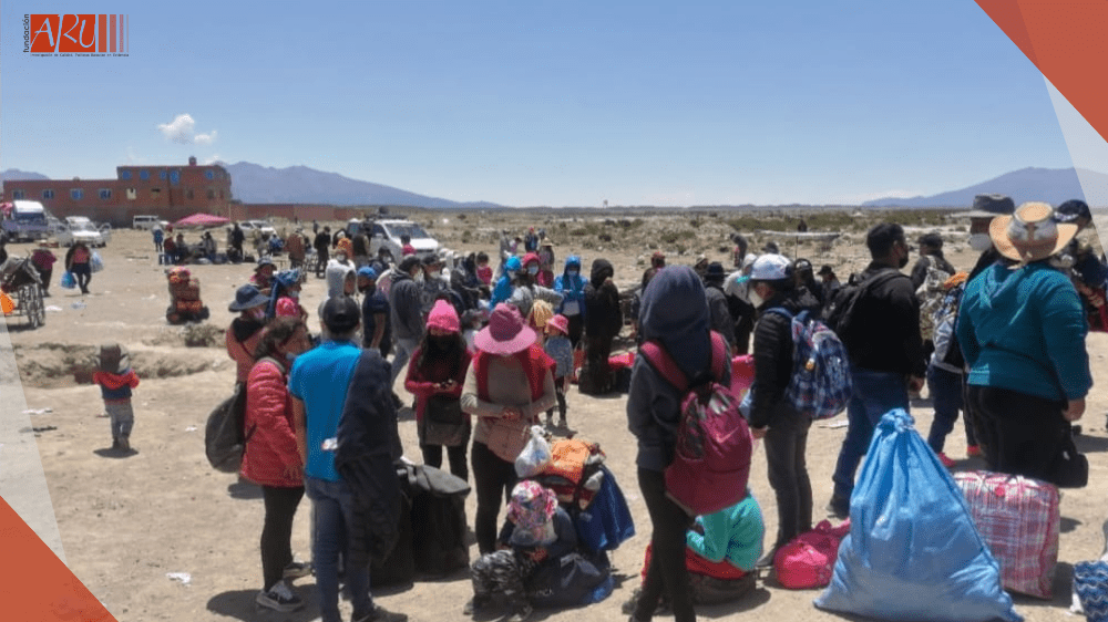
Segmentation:
{"type": "Polygon", "coordinates": [[[3,498],[0,550],[0,619],[116,622],[3,498]]]}

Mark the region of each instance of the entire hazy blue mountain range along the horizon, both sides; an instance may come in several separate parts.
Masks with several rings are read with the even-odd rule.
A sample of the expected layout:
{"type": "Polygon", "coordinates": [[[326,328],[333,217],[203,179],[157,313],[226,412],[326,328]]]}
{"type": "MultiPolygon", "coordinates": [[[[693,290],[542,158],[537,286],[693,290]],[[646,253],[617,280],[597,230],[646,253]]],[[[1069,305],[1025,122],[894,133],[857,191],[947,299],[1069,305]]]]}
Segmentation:
{"type": "MultiPolygon", "coordinates": [[[[460,203],[428,197],[408,190],[351,179],[307,166],[274,168],[249,162],[219,163],[230,173],[230,190],[243,203],[293,203],[325,205],[394,205],[435,209],[495,209],[489,201],[460,203]]],[[[863,207],[954,207],[968,208],[975,195],[1002,194],[1020,204],[1044,200],[1058,205],[1085,198],[1078,176],[1089,187],[1108,188],[1108,175],[1074,168],[1022,168],[967,188],[930,197],[889,197],[862,204],[863,207]]],[[[49,179],[44,175],[9,168],[0,173],[0,183],[16,179],[49,179]]],[[[798,206],[800,207],[800,206],[798,206]]]]}

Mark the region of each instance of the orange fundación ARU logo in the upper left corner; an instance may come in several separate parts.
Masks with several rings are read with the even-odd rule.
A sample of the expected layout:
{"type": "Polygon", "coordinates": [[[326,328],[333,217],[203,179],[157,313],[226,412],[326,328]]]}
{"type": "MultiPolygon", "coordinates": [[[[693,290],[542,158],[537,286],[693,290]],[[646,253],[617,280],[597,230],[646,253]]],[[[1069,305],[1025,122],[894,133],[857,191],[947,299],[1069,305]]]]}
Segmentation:
{"type": "Polygon", "coordinates": [[[126,56],[130,34],[126,14],[23,15],[23,52],[39,56],[126,56]]]}

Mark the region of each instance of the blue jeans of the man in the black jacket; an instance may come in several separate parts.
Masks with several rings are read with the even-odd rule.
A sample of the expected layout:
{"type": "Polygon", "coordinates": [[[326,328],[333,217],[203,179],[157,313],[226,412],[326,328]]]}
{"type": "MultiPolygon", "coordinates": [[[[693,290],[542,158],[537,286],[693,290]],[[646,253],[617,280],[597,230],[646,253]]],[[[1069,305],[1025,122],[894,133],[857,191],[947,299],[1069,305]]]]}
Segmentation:
{"type": "Polygon", "coordinates": [[[873,428],[894,408],[909,411],[907,383],[900,372],[875,372],[851,365],[853,395],[847,404],[847,437],[834,467],[834,498],[849,499],[854,491],[854,471],[870,448],[873,428]]]}

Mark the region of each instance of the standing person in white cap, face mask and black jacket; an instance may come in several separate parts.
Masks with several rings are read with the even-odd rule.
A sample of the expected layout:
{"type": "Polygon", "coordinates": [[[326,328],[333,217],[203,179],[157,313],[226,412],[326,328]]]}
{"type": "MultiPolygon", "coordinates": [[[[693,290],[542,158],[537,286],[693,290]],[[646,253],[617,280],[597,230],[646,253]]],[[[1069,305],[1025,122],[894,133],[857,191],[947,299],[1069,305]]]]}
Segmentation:
{"type": "Polygon", "coordinates": [[[812,529],[812,483],[804,454],[812,419],[797,411],[784,391],[792,379],[792,319],[802,311],[818,315],[820,303],[798,289],[791,262],[780,255],[763,255],[750,272],[750,297],[758,305],[755,325],[753,404],[750,435],[766,439],[769,484],[777,495],[777,539],[759,560],[773,564],[777,550],[812,529]],[[783,309],[788,315],[774,309],[783,309]]]}

